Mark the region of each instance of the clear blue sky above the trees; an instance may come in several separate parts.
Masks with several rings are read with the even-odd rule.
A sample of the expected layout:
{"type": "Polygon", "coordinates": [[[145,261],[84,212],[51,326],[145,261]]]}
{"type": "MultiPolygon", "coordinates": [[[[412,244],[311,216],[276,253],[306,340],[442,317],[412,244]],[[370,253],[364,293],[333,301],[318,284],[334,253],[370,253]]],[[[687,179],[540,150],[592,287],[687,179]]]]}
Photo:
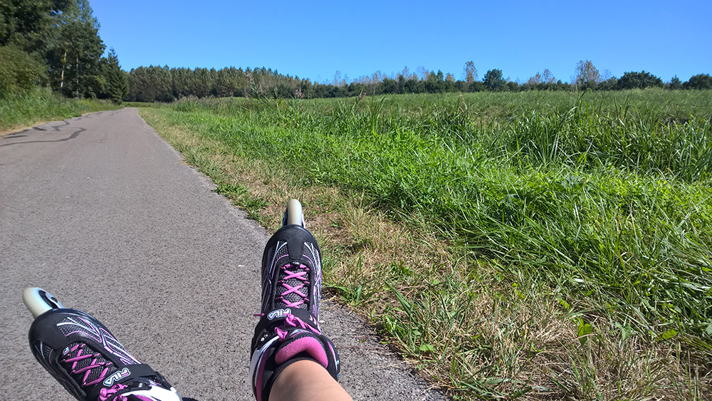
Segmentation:
{"type": "Polygon", "coordinates": [[[525,82],[578,61],[602,75],[712,74],[712,1],[90,0],[123,69],[256,68],[333,82],[405,66],[464,79],[491,69],[525,82]]]}

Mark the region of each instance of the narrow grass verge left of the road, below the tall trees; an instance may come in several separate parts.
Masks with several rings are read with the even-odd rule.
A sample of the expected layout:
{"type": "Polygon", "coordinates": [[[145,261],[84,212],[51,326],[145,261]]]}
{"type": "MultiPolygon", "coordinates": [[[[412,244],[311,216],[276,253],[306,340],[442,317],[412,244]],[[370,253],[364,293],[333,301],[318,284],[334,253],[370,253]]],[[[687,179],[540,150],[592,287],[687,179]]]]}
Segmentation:
{"type": "Polygon", "coordinates": [[[68,99],[46,88],[9,93],[0,98],[0,134],[47,121],[65,120],[86,113],[117,108],[120,106],[108,100],[68,99]]]}

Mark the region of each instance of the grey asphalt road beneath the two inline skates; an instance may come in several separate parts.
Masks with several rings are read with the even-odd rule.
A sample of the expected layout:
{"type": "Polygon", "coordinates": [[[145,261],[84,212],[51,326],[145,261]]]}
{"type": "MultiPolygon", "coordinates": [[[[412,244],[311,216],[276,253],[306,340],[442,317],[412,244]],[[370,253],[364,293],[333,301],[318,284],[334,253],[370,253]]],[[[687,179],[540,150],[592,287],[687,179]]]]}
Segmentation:
{"type": "MultiPolygon", "coordinates": [[[[211,189],[131,108],[1,137],[0,400],[73,400],[29,350],[28,286],[93,313],[183,397],[253,400],[269,234],[211,189]]],[[[347,308],[322,305],[355,400],[444,399],[347,308]]]]}

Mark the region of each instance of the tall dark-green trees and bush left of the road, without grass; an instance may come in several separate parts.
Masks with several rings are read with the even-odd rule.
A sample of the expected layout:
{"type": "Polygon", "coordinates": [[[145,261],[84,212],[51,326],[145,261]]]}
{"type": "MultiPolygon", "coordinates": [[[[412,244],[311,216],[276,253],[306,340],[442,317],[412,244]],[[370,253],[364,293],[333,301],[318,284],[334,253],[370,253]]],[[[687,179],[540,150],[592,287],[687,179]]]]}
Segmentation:
{"type": "Polygon", "coordinates": [[[88,0],[0,2],[0,97],[50,87],[73,98],[128,94],[128,74],[99,37],[88,0]]]}

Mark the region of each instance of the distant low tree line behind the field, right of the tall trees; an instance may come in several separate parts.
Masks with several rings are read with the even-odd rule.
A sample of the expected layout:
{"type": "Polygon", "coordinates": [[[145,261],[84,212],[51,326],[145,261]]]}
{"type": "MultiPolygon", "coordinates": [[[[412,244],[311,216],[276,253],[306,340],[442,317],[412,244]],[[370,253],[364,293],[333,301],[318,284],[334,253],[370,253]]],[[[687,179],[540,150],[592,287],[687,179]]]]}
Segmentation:
{"type": "Polygon", "coordinates": [[[465,63],[463,79],[456,80],[451,73],[420,71],[411,73],[408,68],[397,74],[384,75],[377,71],[355,80],[343,77],[337,71],[330,83],[312,82],[309,79],[284,75],[271,68],[169,68],[148,66],[129,72],[130,91],[126,100],[142,102],[171,102],[184,97],[268,97],[268,98],[343,98],[362,95],[401,93],[447,93],[522,90],[626,90],[634,88],[712,89],[712,77],[698,74],[686,82],[677,77],[665,83],[646,72],[626,72],[616,78],[600,73],[591,61],[580,61],[572,82],[557,80],[548,70],[536,73],[525,82],[504,78],[499,69],[485,73],[478,80],[472,61],[465,63]]]}

